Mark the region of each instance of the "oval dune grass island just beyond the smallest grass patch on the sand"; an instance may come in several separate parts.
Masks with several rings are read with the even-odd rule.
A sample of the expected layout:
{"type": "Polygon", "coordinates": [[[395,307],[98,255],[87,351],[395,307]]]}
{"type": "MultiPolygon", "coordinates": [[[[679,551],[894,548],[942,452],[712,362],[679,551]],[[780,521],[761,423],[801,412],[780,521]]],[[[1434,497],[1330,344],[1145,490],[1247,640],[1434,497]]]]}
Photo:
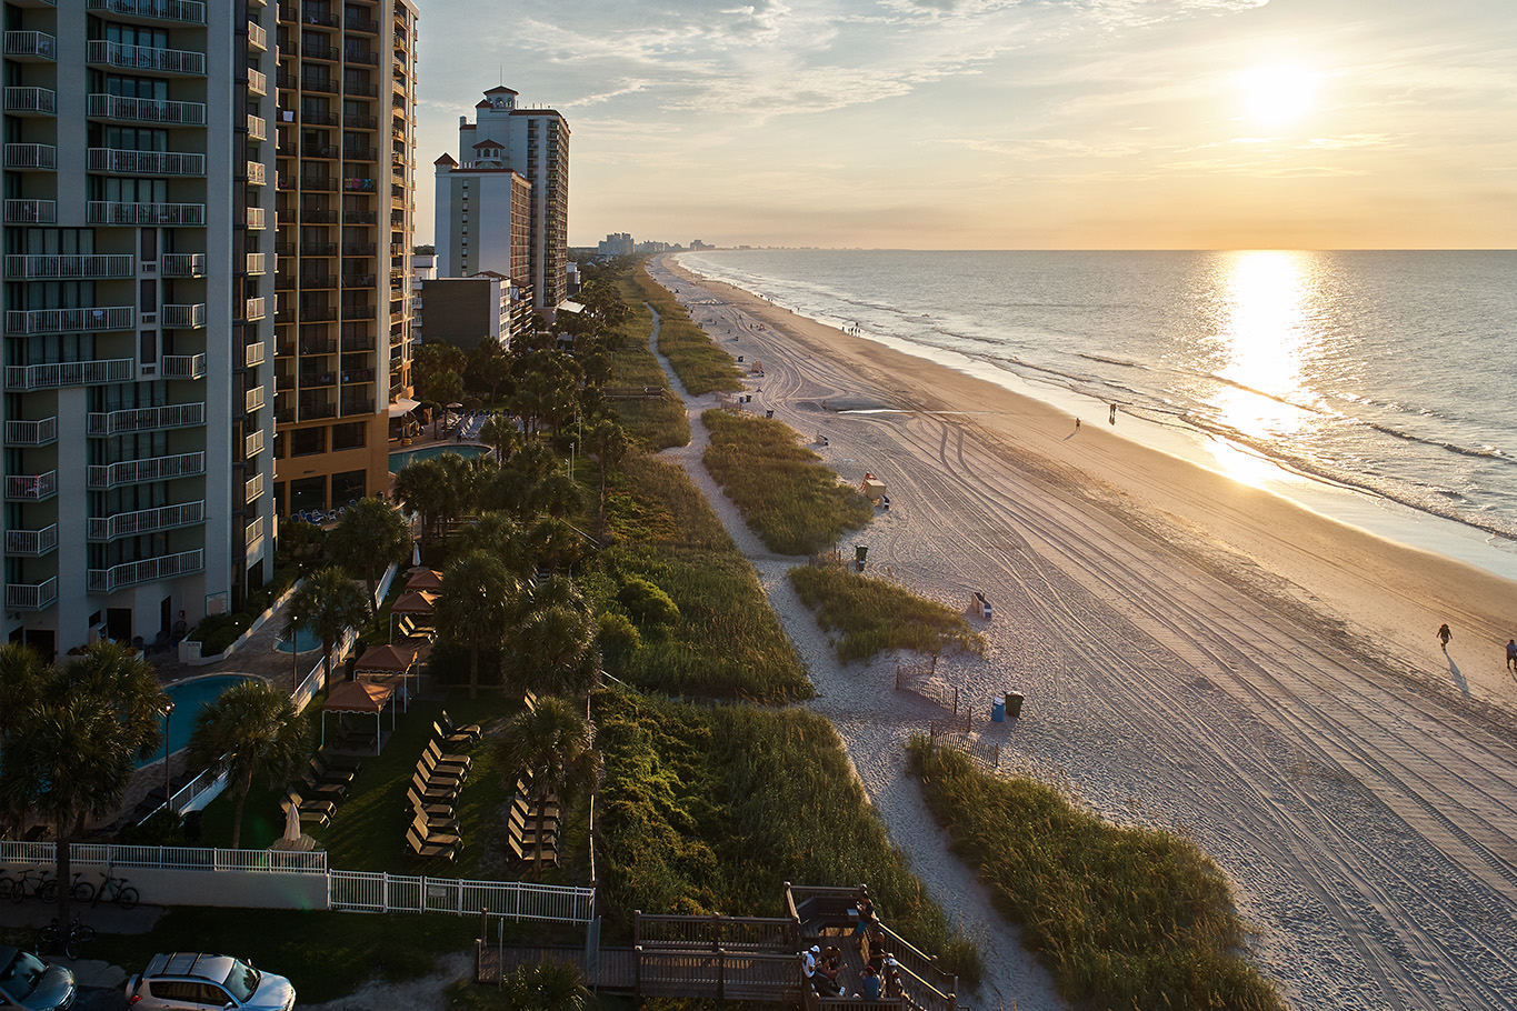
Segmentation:
{"type": "Polygon", "coordinates": [[[874,517],[869,500],[839,484],[790,426],[719,409],[701,420],[711,435],[705,468],[769,550],[816,555],[874,517]]]}

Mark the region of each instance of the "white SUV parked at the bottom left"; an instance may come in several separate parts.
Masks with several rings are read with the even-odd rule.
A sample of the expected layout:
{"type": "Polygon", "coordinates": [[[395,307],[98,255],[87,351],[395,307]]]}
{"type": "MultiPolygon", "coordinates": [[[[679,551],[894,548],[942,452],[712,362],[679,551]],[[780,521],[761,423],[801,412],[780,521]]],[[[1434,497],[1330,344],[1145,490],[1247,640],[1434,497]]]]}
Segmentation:
{"type": "Polygon", "coordinates": [[[171,952],[153,955],[126,981],[126,1003],[132,1011],[290,1011],[294,987],[228,955],[171,952]]]}

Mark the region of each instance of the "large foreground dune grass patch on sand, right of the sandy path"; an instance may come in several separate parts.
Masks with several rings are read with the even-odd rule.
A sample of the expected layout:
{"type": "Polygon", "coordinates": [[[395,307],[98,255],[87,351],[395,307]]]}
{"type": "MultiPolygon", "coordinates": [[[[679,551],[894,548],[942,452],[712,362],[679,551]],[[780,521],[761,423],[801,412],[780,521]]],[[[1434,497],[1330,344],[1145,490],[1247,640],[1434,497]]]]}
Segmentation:
{"type": "Polygon", "coordinates": [[[909,750],[954,850],[980,869],[1065,997],[1097,1008],[1285,1006],[1242,956],[1227,881],[1189,840],[1112,825],[922,737],[909,750]]]}

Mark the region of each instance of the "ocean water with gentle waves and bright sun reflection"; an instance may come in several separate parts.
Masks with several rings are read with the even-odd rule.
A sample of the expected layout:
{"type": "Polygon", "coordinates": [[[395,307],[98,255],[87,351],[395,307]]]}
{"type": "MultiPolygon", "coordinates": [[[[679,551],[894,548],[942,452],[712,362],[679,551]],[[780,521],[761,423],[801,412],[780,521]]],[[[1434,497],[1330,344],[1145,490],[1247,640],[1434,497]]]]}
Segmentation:
{"type": "Polygon", "coordinates": [[[1517,252],[715,250],[690,270],[1517,577],[1517,252]],[[1434,520],[1434,521],[1429,521],[1434,520]]]}

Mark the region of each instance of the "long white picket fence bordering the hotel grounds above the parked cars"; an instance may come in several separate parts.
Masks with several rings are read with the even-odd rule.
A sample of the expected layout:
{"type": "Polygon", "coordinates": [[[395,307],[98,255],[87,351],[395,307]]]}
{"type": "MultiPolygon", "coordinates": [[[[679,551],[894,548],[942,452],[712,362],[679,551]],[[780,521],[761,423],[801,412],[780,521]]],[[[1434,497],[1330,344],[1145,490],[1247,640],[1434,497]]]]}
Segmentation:
{"type": "MultiPolygon", "coordinates": [[[[5,864],[52,865],[53,843],[0,840],[0,867],[5,864]]],[[[510,917],[513,920],[552,920],[589,923],[595,914],[595,888],[540,885],[526,881],[464,881],[385,875],[356,870],[331,870],[326,853],[296,853],[259,849],[202,849],[190,846],[106,846],[76,843],[71,849],[76,870],[137,869],[184,875],[322,875],[326,878],[326,906],[347,912],[451,912],[454,916],[510,917]]],[[[270,894],[275,890],[270,890],[270,894]]],[[[211,887],[197,894],[214,896],[211,887]]],[[[146,896],[147,902],[153,897],[146,896]]],[[[205,903],[214,905],[214,903],[205,903]]],[[[294,905],[291,908],[300,908],[294,905]]]]}

